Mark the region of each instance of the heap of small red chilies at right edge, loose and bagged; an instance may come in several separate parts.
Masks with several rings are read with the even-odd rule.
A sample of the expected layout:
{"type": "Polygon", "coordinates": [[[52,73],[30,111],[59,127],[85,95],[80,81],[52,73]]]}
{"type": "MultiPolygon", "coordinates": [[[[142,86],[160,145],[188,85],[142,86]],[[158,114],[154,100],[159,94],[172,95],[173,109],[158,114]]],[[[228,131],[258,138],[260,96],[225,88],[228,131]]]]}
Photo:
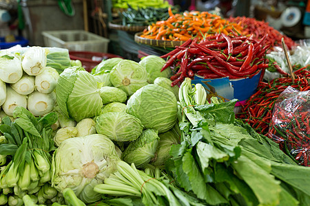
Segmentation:
{"type": "MultiPolygon", "coordinates": [[[[303,67],[294,73],[296,76],[294,81],[290,77],[283,77],[270,82],[259,82],[258,91],[251,95],[236,117],[247,122],[257,133],[280,144],[280,148],[297,163],[307,166],[310,160],[308,151],[310,116],[307,106],[304,107],[302,102],[299,102],[275,107],[279,98],[282,100],[282,92],[288,87],[298,89],[298,91],[309,91],[309,67],[303,67]],[[305,111],[302,113],[298,107],[289,109],[290,105],[300,105],[302,106],[300,108],[304,107],[305,111]],[[273,119],[272,122],[272,118],[278,120],[273,119]]],[[[309,102],[307,96],[306,99],[301,99],[305,101],[305,104],[309,102]]]]}

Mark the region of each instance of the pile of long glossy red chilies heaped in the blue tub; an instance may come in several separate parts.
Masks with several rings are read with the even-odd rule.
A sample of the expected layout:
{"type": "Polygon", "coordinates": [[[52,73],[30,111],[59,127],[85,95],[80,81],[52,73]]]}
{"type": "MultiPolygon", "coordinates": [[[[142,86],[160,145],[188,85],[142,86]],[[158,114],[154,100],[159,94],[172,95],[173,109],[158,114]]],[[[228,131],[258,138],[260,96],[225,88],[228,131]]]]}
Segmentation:
{"type": "Polygon", "coordinates": [[[198,38],[189,39],[161,58],[169,58],[161,71],[171,67],[174,70],[172,86],[184,78],[194,75],[204,78],[230,79],[255,76],[268,67],[265,53],[270,45],[264,45],[265,35],[260,40],[250,36],[207,36],[199,43],[198,38]]]}

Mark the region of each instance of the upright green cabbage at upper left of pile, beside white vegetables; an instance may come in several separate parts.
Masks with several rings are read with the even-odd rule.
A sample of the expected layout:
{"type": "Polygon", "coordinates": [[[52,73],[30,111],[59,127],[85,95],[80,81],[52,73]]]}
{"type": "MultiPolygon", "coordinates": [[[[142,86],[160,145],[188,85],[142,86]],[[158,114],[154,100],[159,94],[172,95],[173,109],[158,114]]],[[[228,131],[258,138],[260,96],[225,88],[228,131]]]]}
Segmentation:
{"type": "Polygon", "coordinates": [[[82,67],[69,67],[61,73],[56,101],[63,115],[76,122],[99,115],[103,106],[96,80],[82,67]]]}

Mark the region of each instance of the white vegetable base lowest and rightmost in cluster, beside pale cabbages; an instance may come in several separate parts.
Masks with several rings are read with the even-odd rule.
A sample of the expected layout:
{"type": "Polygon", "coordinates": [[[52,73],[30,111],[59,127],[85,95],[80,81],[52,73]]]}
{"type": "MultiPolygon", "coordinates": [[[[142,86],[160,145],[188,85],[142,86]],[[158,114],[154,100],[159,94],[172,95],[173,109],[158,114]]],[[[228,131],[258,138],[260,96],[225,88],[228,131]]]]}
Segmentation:
{"type": "Polygon", "coordinates": [[[43,116],[53,110],[56,103],[56,94],[39,93],[34,91],[28,96],[28,110],[34,116],[43,116]]]}

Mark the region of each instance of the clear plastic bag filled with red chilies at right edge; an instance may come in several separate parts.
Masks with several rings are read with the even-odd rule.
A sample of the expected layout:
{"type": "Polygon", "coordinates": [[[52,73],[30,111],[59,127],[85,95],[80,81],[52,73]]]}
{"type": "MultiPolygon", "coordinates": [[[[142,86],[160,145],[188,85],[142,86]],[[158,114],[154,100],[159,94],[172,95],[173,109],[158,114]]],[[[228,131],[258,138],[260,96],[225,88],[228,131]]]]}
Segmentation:
{"type": "Polygon", "coordinates": [[[269,138],[297,163],[310,166],[310,91],[287,87],[276,101],[269,138]]]}

